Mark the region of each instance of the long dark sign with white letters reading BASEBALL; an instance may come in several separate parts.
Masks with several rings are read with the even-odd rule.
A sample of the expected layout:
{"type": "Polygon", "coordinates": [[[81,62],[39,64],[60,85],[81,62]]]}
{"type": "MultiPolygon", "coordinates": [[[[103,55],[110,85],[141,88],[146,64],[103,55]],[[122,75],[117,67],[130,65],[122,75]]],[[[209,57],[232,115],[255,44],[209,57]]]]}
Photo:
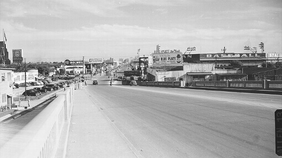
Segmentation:
{"type": "Polygon", "coordinates": [[[215,53],[200,54],[200,59],[209,58],[265,58],[265,53],[215,53]]]}

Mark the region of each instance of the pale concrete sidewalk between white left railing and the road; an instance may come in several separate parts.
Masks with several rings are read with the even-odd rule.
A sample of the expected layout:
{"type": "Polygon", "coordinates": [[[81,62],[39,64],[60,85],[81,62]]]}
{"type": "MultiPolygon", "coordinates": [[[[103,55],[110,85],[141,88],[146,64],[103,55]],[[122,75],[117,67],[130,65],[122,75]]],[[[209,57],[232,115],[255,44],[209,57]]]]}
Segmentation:
{"type": "Polygon", "coordinates": [[[74,91],[66,147],[66,158],[141,158],[85,90],[74,91]]]}

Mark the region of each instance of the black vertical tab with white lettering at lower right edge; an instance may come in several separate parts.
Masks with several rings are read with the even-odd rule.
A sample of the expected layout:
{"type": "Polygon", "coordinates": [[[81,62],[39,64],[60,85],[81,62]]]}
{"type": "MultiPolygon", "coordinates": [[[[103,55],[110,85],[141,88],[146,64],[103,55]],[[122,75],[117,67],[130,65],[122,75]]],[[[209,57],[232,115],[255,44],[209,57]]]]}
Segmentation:
{"type": "Polygon", "coordinates": [[[275,152],[282,156],[282,109],[274,112],[275,118],[275,152]]]}

